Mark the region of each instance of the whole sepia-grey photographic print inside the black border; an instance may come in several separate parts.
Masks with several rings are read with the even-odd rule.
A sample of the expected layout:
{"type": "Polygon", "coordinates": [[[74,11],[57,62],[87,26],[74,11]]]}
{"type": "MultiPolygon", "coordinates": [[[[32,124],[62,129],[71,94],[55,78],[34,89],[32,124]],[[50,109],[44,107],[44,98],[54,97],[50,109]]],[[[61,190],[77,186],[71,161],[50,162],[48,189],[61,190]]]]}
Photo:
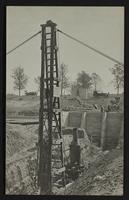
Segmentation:
{"type": "Polygon", "coordinates": [[[6,195],[123,195],[124,20],[6,7],[6,195]]]}

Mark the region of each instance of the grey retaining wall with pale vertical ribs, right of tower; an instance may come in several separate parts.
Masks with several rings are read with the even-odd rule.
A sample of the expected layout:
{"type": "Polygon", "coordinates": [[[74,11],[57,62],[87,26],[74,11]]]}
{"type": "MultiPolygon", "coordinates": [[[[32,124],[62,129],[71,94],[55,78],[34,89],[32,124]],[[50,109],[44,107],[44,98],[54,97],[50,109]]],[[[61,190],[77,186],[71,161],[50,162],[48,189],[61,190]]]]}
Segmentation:
{"type": "Polygon", "coordinates": [[[119,142],[123,113],[69,112],[65,127],[86,130],[89,139],[103,149],[115,148],[119,142]]]}

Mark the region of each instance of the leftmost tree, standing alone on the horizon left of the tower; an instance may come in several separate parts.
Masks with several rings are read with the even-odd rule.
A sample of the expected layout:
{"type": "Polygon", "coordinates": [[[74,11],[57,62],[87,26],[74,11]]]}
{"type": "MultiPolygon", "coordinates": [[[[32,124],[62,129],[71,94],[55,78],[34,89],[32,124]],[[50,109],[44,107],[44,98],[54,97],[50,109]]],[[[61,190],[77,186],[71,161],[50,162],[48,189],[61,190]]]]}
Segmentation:
{"type": "Polygon", "coordinates": [[[24,73],[22,67],[17,67],[13,70],[12,78],[14,79],[14,89],[19,91],[19,96],[21,96],[21,90],[25,89],[28,77],[24,73]]]}

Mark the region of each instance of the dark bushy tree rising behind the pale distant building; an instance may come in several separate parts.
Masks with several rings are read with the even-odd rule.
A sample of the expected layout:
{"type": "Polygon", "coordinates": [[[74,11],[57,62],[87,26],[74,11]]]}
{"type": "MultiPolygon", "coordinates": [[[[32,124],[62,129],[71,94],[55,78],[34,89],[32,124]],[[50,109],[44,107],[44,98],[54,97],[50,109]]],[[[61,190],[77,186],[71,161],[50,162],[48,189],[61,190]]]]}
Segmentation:
{"type": "Polygon", "coordinates": [[[89,89],[93,84],[92,78],[85,71],[82,71],[81,73],[78,74],[77,84],[85,89],[89,89]]]}

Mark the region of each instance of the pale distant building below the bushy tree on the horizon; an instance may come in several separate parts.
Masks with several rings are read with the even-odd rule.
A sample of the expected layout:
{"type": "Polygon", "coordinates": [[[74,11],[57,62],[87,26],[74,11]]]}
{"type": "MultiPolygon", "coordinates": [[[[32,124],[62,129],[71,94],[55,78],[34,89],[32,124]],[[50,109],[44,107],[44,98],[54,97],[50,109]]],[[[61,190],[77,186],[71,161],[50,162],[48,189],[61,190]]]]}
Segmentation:
{"type": "Polygon", "coordinates": [[[73,86],[71,88],[71,95],[74,97],[80,97],[80,99],[89,99],[93,97],[93,90],[82,88],[80,86],[73,86]]]}

